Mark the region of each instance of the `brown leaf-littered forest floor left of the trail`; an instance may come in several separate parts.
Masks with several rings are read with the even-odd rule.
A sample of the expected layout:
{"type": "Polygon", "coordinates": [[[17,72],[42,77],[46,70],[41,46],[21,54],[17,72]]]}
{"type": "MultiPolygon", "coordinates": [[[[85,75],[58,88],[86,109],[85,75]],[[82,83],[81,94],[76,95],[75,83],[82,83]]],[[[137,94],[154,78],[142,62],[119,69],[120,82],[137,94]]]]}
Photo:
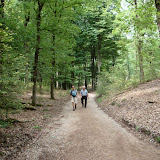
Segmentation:
{"type": "Polygon", "coordinates": [[[30,105],[30,92],[20,99],[25,107],[35,110],[20,109],[8,115],[16,122],[13,126],[0,128],[0,160],[14,159],[18,152],[23,152],[25,146],[35,143],[42,136],[43,130],[48,124],[52,123],[57,127],[56,122],[61,119],[61,112],[64,104],[68,101],[68,96],[63,91],[56,94],[56,100],[50,99],[48,93],[37,95],[39,106],[36,107],[30,105]]]}

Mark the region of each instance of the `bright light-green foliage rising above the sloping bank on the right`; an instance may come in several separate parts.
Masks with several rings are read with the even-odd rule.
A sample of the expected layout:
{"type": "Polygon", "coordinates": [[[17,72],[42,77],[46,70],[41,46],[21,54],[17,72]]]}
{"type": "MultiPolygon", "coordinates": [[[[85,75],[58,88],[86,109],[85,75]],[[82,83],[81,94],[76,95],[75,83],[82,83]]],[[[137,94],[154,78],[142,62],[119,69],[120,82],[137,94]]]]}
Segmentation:
{"type": "MultiPolygon", "coordinates": [[[[115,16],[112,34],[120,37],[116,42],[120,48],[120,56],[113,67],[103,66],[103,73],[100,75],[100,83],[97,88],[101,94],[118,93],[128,87],[136,87],[140,83],[139,41],[142,43],[140,50],[144,81],[160,77],[155,7],[149,2],[138,2],[137,4],[137,9],[134,4],[125,4],[127,7],[119,10],[115,16]]],[[[111,63],[109,60],[105,62],[111,63]]]]}

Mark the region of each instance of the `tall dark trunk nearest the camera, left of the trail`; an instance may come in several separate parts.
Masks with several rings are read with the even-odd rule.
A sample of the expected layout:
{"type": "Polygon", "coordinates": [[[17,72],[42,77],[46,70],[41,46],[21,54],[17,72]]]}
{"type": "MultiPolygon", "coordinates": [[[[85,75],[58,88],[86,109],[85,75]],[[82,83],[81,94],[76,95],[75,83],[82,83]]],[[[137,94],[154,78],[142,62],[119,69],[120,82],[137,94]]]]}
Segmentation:
{"type": "Polygon", "coordinates": [[[33,91],[32,91],[32,105],[36,105],[36,91],[37,91],[37,67],[38,67],[38,56],[40,50],[40,25],[41,25],[41,12],[44,3],[38,0],[38,9],[36,15],[36,27],[37,27],[37,44],[35,50],[34,67],[33,67],[33,91]]]}

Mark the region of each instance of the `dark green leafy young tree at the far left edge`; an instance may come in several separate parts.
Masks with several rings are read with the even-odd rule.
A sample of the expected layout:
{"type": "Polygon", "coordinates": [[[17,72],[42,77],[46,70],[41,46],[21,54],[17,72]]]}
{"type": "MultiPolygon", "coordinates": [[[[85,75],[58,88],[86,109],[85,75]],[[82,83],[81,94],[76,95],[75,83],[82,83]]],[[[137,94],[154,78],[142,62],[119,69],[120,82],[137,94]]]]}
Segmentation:
{"type": "MultiPolygon", "coordinates": [[[[22,75],[23,56],[18,56],[13,51],[10,43],[13,41],[8,29],[0,29],[1,63],[0,63],[0,109],[6,110],[6,117],[10,109],[16,109],[15,101],[19,91],[19,78],[22,75]]],[[[2,117],[2,115],[0,115],[2,117]]]]}

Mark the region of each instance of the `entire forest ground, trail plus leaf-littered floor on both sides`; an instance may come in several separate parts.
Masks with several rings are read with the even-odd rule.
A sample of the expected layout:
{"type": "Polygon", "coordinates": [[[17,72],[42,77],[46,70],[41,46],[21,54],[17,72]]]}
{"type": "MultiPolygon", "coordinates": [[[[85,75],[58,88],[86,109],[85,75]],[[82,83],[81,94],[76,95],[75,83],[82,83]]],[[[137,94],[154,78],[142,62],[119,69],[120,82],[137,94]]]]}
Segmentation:
{"type": "MultiPolygon", "coordinates": [[[[6,146],[0,146],[6,153],[3,160],[160,160],[158,143],[146,138],[159,134],[159,91],[160,80],[148,82],[103,100],[102,109],[90,93],[87,108],[78,97],[76,111],[67,102],[68,96],[53,101],[43,95],[38,99],[41,107],[14,114],[11,118],[20,123],[0,129],[8,133],[6,146]],[[153,124],[146,126],[150,121],[153,124]],[[141,134],[143,129],[148,136],[141,134]]],[[[24,101],[29,97],[24,96],[24,101]]]]}

